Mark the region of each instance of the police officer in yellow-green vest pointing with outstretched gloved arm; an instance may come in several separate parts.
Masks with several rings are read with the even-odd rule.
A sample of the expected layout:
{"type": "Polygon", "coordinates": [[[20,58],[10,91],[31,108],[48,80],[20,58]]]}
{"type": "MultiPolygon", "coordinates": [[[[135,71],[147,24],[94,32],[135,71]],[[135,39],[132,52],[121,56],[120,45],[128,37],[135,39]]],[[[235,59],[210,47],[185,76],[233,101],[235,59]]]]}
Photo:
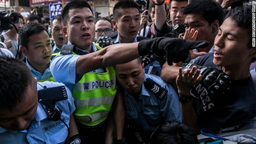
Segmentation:
{"type": "MultiPolygon", "coordinates": [[[[95,37],[94,16],[84,0],[73,0],[62,11],[65,36],[68,45],[50,64],[54,80],[64,83],[73,91],[79,134],[86,143],[104,143],[104,126],[116,95],[116,77],[113,65],[134,60],[141,55],[168,54],[176,61],[189,58],[189,49],[205,47],[207,42],[190,42],[182,39],[156,38],[130,44],[115,44],[100,50],[93,43],[95,37]],[[166,45],[165,45],[166,44],[166,45]],[[177,46],[176,46],[177,44],[177,46]],[[174,53],[175,52],[175,53],[174,53]]],[[[118,106],[122,104],[118,103],[118,106]]],[[[124,112],[113,106],[116,131],[122,130],[124,112]],[[119,115],[118,115],[119,114],[119,115]],[[119,120],[119,121],[118,121],[119,120]]],[[[119,131],[120,132],[120,131],[119,131]]]]}

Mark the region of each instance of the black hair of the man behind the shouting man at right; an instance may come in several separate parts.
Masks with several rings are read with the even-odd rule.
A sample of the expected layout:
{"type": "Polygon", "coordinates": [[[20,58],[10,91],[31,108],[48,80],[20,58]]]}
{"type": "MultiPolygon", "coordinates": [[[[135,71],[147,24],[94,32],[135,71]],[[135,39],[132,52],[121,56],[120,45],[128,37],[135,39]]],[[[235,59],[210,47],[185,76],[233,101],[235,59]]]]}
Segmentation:
{"type": "Polygon", "coordinates": [[[223,8],[215,0],[195,0],[184,8],[183,14],[201,14],[209,24],[218,20],[220,25],[224,17],[223,8]]]}

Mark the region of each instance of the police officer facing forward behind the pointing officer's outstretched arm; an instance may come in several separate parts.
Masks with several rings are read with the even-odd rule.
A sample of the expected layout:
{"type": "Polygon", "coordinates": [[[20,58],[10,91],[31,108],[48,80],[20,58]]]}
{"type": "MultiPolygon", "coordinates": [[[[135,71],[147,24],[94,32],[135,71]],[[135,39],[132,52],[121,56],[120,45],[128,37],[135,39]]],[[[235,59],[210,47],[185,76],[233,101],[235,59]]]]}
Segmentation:
{"type": "MultiPolygon", "coordinates": [[[[138,4],[132,0],[120,0],[115,4],[113,8],[112,24],[114,28],[118,29],[118,32],[106,36],[112,38],[114,44],[140,42],[141,40],[148,39],[137,35],[140,30],[140,10],[138,4]]],[[[151,64],[148,62],[148,66],[145,65],[146,73],[160,76],[161,67],[159,62],[153,62],[150,56],[142,59],[143,61],[151,60],[150,62],[152,62],[151,64]]]]}

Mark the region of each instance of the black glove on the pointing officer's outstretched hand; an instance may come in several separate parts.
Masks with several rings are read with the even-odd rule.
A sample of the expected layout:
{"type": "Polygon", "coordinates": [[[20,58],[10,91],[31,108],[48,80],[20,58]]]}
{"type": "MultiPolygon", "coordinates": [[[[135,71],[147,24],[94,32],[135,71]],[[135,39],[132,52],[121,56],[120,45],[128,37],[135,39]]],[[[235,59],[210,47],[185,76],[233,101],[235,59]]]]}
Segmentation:
{"type": "Polygon", "coordinates": [[[189,62],[189,50],[196,48],[205,48],[209,45],[206,41],[189,41],[181,38],[152,38],[150,40],[142,40],[138,44],[138,52],[140,56],[148,54],[156,54],[158,56],[167,57],[167,62],[189,62]]]}

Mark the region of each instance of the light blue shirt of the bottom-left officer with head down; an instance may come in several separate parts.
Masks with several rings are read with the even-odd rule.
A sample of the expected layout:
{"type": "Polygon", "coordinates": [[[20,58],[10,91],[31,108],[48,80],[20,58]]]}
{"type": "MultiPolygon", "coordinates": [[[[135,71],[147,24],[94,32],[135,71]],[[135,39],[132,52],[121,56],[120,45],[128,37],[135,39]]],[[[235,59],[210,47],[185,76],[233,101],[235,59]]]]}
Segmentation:
{"type": "MultiPolygon", "coordinates": [[[[64,84],[58,82],[38,82],[37,89],[43,89],[55,86],[63,86],[64,84]]],[[[69,125],[70,115],[76,109],[74,106],[74,99],[72,93],[66,87],[68,99],[56,102],[63,112],[61,114],[62,120],[69,125]]],[[[57,108],[55,106],[55,108],[57,108]]],[[[66,136],[68,135],[68,128],[63,122],[49,120],[44,112],[42,105],[38,102],[36,115],[28,130],[20,132],[13,130],[6,130],[0,127],[0,143],[1,144],[64,144],[66,136]]]]}

